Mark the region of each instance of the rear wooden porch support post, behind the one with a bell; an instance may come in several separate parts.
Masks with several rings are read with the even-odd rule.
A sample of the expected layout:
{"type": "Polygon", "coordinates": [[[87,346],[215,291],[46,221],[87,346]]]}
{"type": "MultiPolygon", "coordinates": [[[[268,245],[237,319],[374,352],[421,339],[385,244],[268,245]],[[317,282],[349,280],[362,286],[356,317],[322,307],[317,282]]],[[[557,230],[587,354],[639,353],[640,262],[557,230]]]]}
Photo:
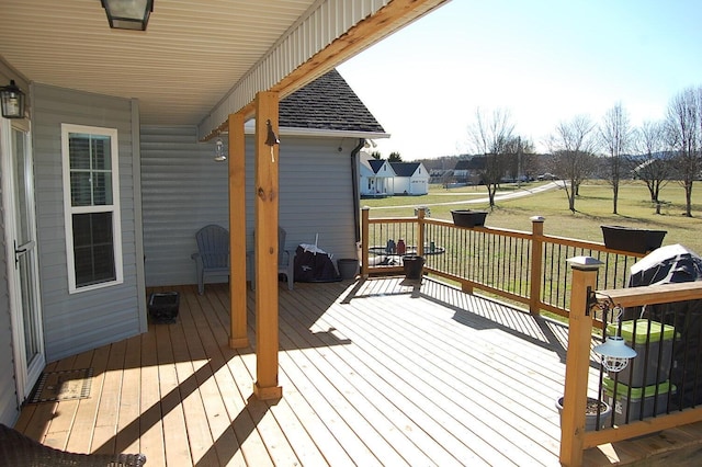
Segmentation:
{"type": "Polygon", "coordinates": [[[229,115],[229,348],[249,346],[246,322],[246,141],[244,115],[229,115]]]}

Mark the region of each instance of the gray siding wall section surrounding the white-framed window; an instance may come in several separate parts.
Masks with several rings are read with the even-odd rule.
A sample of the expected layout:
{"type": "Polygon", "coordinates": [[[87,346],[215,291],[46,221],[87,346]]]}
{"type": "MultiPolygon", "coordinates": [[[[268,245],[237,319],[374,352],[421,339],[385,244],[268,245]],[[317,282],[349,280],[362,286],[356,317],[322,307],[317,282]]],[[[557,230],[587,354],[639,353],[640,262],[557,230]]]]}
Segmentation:
{"type": "MultiPolygon", "coordinates": [[[[143,280],[137,273],[135,230],[133,105],[135,102],[34,84],[32,135],[35,163],[37,238],[47,361],[55,361],[138,334],[146,328],[143,280]],[[68,293],[61,124],[116,128],[124,282],[90,292],[68,293]],[[141,282],[141,284],[139,284],[141,282]]],[[[136,159],[136,162],[134,160],[136,159]]]]}

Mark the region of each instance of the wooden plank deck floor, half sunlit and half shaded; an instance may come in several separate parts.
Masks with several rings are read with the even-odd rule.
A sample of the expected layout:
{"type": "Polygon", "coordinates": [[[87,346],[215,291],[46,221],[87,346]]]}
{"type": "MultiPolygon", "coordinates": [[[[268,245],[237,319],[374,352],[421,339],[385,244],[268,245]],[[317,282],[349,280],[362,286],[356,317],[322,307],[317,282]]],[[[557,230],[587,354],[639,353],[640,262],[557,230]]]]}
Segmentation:
{"type": "MultiPolygon", "coordinates": [[[[253,350],[227,346],[228,286],[169,289],[176,324],[49,364],[93,368],[90,397],[26,405],[15,428],[151,466],[559,465],[562,324],[427,278],[281,286],[270,403],[251,398],[253,350]]],[[[254,342],[252,294],[249,309],[254,342]]],[[[588,465],[641,456],[590,451],[588,465]]]]}

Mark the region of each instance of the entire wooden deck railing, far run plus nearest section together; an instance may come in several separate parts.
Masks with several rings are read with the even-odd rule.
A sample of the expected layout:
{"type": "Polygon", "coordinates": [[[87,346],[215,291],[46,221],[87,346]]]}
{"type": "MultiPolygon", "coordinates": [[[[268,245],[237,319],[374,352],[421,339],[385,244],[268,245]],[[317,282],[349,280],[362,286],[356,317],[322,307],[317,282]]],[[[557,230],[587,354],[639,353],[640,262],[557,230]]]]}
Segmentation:
{"type": "MultiPolygon", "coordinates": [[[[581,465],[584,449],[589,447],[702,421],[702,403],[697,407],[695,403],[669,403],[663,414],[645,419],[642,415],[631,422],[626,419],[615,423],[612,419],[609,426],[585,430],[588,376],[590,367],[599,364],[591,349],[593,340],[602,339],[593,338],[593,327],[602,328],[600,334],[605,334],[609,320],[608,312],[598,310],[612,305],[622,309],[702,300],[702,282],[625,288],[630,267],[643,253],[544,235],[543,217],[532,217],[532,231],[526,232],[457,227],[450,221],[426,218],[422,208],[418,208],[417,217],[408,218],[371,219],[369,208],[362,214],[361,273],[364,277],[401,273],[404,255],[418,254],[426,260],[426,273],[455,281],[466,292],[478,288],[528,305],[532,314],[547,310],[568,318],[561,417],[563,465],[581,465]],[[400,239],[403,247],[398,249],[400,239]]],[[[646,338],[646,345],[649,339],[650,335],[646,338]]],[[[598,400],[603,398],[602,378],[600,371],[598,400]]],[[[702,381],[698,373],[693,378],[695,384],[702,381]]],[[[615,380],[615,395],[616,384],[615,380]]],[[[702,384],[699,386],[694,387],[695,395],[702,395],[702,384]]]]}

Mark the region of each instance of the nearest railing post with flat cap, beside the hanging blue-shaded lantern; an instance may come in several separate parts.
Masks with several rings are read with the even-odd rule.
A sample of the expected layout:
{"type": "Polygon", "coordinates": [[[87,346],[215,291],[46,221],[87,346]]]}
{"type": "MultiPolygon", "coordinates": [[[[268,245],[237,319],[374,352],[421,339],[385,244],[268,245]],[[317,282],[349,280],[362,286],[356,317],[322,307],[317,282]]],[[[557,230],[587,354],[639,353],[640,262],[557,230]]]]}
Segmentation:
{"type": "Polygon", "coordinates": [[[592,340],[589,296],[595,291],[598,269],[602,263],[589,257],[571,258],[568,262],[573,269],[573,289],[568,319],[566,383],[561,414],[561,464],[577,467],[582,465],[592,340]]]}

